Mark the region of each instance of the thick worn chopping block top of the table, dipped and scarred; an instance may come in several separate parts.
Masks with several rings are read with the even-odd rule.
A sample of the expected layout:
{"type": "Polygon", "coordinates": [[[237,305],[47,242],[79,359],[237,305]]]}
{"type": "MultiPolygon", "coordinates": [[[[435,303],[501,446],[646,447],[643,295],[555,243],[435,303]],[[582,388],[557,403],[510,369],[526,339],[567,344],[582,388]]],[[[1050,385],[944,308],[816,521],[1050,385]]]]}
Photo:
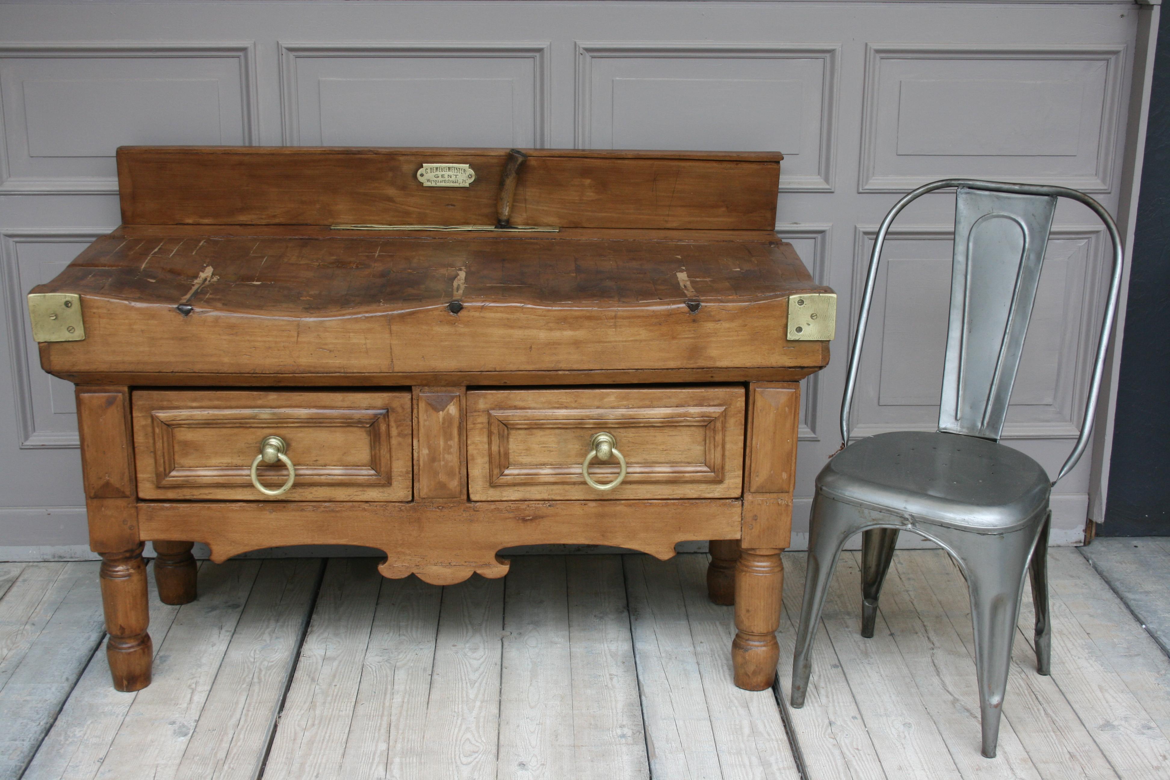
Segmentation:
{"type": "Polygon", "coordinates": [[[115,234],[35,291],[82,296],[50,373],[344,374],[819,367],[826,343],[785,339],[787,296],[815,289],[775,236],[115,234]]]}

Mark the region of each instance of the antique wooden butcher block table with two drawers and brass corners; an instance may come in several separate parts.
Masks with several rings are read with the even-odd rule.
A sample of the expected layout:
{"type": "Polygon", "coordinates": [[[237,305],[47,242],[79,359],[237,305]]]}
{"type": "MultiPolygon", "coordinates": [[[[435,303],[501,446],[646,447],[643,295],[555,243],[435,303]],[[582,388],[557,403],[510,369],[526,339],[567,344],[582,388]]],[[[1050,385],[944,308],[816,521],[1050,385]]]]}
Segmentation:
{"type": "Polygon", "coordinates": [[[505,547],[710,540],[735,683],[779,649],[803,377],[835,296],[775,233],[780,156],[124,147],[123,225],[29,295],[76,385],[118,690],[212,559],[381,551],[503,577],[505,547]]]}

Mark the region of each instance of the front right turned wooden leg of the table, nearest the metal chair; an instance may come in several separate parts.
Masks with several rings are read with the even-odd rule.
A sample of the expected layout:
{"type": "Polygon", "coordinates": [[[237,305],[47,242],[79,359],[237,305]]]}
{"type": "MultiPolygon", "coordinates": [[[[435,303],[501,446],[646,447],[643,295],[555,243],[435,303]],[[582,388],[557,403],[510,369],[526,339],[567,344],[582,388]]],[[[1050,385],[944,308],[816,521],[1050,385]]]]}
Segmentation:
{"type": "Polygon", "coordinates": [[[735,641],[731,661],[735,684],[749,691],[770,688],[776,678],[780,646],[780,592],[784,565],[779,550],[743,550],[735,570],[735,641]]]}

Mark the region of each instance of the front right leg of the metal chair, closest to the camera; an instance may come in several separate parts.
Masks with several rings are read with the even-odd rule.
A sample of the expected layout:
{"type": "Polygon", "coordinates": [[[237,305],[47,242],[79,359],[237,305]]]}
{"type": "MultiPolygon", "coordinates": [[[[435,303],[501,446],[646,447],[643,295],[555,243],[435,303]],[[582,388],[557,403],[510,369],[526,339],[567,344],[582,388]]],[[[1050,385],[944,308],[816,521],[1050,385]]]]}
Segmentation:
{"type": "Polygon", "coordinates": [[[1032,526],[1005,534],[979,534],[935,529],[940,541],[958,555],[966,572],[986,758],[996,758],[1024,577],[1039,531],[1032,526]]]}

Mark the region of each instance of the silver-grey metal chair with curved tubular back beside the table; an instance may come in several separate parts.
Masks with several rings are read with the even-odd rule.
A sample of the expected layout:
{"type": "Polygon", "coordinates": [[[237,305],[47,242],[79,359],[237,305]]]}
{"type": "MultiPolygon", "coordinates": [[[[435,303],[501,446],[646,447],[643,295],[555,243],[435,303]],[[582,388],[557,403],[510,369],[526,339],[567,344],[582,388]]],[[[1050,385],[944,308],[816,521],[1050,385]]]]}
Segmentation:
{"type": "Polygon", "coordinates": [[[899,531],[913,531],[945,548],[966,577],[975,627],[983,754],[994,758],[1012,636],[1024,577],[1030,568],[1035,601],[1037,668],[1041,675],[1048,674],[1046,554],[1052,517],[1048,498],[1052,485],[1076,464],[1088,443],[1117,306],[1122,249],[1117,226],[1108,212],[1075,189],[945,179],[902,198],[878,229],[869,260],[841,402],[841,439],[846,443],[849,406],[886,235],[907,205],[944,188],[957,188],[957,193],[938,430],[878,434],[842,444],[844,450],[817,476],[808,573],[792,664],[792,706],[804,705],[815,627],[846,539],[863,532],[861,635],[869,637],[874,635],[878,596],[899,531]],[[1057,478],[1049,482],[1039,463],[1000,444],[998,439],[1058,198],[1085,203],[1104,222],[1113,240],[1113,277],[1080,436],[1057,478]]]}

